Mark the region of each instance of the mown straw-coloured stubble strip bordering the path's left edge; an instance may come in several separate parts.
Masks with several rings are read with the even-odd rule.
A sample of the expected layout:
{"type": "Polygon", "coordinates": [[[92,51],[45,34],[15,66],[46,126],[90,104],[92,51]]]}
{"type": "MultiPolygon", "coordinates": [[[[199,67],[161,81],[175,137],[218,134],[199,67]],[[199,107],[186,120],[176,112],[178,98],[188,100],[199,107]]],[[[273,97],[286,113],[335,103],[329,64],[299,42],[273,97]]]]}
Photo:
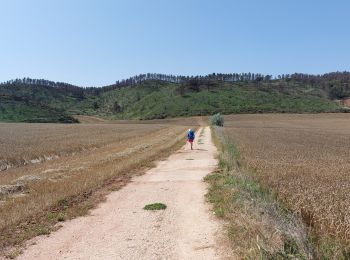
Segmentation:
{"type": "Polygon", "coordinates": [[[4,247],[48,233],[57,214],[64,219],[85,214],[102,199],[95,196],[98,190],[119,189],[139,169],[166,158],[162,154],[174,151],[185,131],[184,126],[174,126],[121,142],[111,139],[101,148],[1,172],[0,255],[4,247]]]}

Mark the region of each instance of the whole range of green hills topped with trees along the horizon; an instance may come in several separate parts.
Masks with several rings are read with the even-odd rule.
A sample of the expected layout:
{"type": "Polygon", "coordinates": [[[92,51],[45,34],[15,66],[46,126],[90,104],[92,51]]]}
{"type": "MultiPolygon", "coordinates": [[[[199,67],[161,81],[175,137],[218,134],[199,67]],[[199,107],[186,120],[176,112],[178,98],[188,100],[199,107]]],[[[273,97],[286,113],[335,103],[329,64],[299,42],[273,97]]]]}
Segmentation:
{"type": "Polygon", "coordinates": [[[333,99],[350,95],[348,73],[293,74],[279,79],[260,74],[150,75],[102,88],[31,79],[3,83],[0,121],[71,123],[73,115],[155,119],[217,112],[339,112],[342,108],[333,99]]]}

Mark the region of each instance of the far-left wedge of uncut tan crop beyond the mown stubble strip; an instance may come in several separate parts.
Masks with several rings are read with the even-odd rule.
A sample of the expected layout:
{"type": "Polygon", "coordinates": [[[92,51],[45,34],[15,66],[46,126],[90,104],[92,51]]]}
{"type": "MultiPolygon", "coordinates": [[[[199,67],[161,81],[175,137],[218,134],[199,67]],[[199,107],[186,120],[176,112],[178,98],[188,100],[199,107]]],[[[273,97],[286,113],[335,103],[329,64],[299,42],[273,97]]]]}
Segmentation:
{"type": "Polygon", "coordinates": [[[125,141],[166,125],[0,123],[0,170],[125,141]]]}

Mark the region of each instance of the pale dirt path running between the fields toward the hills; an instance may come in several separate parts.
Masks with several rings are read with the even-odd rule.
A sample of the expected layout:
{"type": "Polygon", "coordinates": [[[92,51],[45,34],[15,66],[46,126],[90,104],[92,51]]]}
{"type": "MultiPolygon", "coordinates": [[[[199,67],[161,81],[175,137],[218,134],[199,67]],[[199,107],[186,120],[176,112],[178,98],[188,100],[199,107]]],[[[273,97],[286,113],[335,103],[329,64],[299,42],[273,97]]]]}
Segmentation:
{"type": "Polygon", "coordinates": [[[86,217],[31,240],[19,259],[217,259],[219,224],[205,202],[203,177],[214,170],[210,128],[136,177],[86,217]],[[143,210],[162,202],[164,211],[143,210]]]}

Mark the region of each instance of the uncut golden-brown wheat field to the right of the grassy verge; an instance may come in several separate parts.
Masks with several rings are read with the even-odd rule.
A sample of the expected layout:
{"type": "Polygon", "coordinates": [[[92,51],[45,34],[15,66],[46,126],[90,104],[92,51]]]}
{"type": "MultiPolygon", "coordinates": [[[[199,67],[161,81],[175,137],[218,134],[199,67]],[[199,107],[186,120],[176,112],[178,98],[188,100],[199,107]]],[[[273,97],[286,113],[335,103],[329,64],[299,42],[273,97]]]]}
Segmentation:
{"type": "Polygon", "coordinates": [[[350,114],[233,115],[242,162],[322,237],[350,241],[350,114]]]}

